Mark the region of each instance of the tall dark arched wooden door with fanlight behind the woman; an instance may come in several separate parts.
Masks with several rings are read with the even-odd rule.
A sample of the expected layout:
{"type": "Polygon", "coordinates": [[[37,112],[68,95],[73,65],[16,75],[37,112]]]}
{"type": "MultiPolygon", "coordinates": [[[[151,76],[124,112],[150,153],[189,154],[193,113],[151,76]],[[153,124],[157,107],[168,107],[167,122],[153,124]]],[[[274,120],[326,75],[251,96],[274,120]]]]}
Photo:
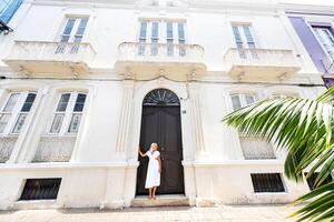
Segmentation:
{"type": "MultiPolygon", "coordinates": [[[[146,152],[153,142],[158,143],[163,160],[161,184],[157,193],[184,193],[180,102],[178,97],[167,89],[153,90],[143,101],[141,151],[146,152]]],[[[137,195],[147,194],[145,180],[148,159],[139,157],[139,162],[137,195]]]]}

